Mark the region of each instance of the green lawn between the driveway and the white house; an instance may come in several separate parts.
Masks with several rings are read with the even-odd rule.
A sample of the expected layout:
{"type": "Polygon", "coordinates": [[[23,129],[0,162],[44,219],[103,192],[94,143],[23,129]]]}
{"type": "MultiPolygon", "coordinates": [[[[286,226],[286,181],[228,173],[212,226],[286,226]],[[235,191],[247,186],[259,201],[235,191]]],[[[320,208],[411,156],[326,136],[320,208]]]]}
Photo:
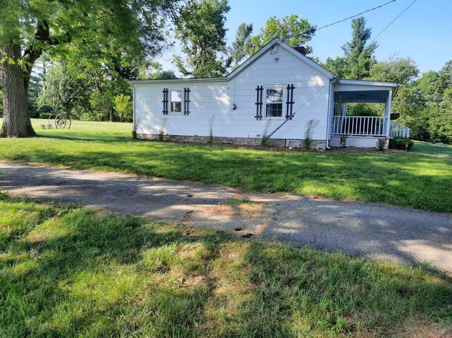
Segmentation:
{"type": "MultiPolygon", "coordinates": [[[[41,120],[44,121],[44,120],[41,120]]],[[[74,121],[70,130],[0,140],[0,159],[102,169],[452,212],[452,148],[406,153],[273,152],[134,141],[131,124],[74,121]]]]}

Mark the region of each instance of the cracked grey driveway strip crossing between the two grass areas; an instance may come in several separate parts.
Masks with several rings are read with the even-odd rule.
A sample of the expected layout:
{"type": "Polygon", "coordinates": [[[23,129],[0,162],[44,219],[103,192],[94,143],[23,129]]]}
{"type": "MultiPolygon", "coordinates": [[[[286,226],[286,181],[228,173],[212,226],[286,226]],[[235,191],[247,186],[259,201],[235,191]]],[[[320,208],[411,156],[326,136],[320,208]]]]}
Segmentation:
{"type": "Polygon", "coordinates": [[[0,162],[0,189],[452,272],[450,214],[10,162],[0,162]]]}

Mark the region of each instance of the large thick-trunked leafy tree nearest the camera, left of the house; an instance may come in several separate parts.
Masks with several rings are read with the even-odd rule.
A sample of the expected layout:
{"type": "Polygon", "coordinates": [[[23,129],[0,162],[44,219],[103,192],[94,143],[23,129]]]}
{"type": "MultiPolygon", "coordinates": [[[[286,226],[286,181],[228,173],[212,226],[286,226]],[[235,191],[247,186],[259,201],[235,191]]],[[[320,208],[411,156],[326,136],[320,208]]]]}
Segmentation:
{"type": "Polygon", "coordinates": [[[128,65],[164,46],[171,0],[4,0],[0,11],[1,137],[35,135],[27,108],[33,65],[43,52],[90,69],[108,53],[128,65]]]}

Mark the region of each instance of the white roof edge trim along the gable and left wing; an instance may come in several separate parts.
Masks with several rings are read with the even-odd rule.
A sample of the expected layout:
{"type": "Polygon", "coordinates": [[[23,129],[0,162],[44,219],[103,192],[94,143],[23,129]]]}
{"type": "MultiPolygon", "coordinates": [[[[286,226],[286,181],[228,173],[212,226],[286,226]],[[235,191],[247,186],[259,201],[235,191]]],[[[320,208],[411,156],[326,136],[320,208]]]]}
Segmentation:
{"type": "Polygon", "coordinates": [[[237,67],[235,70],[230,72],[226,76],[220,76],[220,77],[213,77],[213,78],[185,78],[185,79],[155,79],[155,80],[132,80],[129,81],[130,84],[136,84],[136,83],[149,83],[149,82],[203,82],[203,81],[227,81],[229,79],[232,79],[234,76],[242,72],[244,69],[246,69],[249,65],[251,65],[260,55],[265,53],[268,49],[274,48],[275,45],[278,45],[277,48],[282,47],[295,55],[296,57],[300,58],[301,60],[308,63],[310,66],[316,68],[320,72],[322,72],[324,75],[326,75],[328,78],[332,79],[335,77],[333,73],[328,71],[327,69],[323,68],[320,64],[317,62],[311,60],[306,55],[303,55],[295,48],[287,45],[284,41],[278,38],[274,38],[272,41],[270,41],[268,44],[266,44],[264,47],[260,48],[256,53],[254,53],[252,56],[250,56],[245,62],[243,62],[239,67],[237,67]]]}

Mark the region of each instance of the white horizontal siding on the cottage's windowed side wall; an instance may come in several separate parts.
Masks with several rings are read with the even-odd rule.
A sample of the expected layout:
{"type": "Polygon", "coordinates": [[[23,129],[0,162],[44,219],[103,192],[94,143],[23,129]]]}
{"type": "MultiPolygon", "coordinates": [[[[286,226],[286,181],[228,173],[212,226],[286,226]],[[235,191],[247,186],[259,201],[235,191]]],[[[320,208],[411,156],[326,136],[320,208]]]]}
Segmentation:
{"type": "MultiPolygon", "coordinates": [[[[218,137],[261,136],[265,119],[258,121],[256,115],[256,87],[282,85],[283,118],[273,118],[270,131],[276,128],[285,116],[287,85],[293,84],[294,105],[297,111],[317,91],[296,116],[288,121],[272,138],[303,139],[305,124],[310,119],[319,120],[313,138],[325,140],[326,117],[329,97],[329,78],[284,48],[271,55],[262,54],[254,63],[228,81],[137,83],[134,85],[134,117],[140,118],[138,134],[157,134],[160,121],[168,118],[166,129],[170,135],[208,136],[208,119],[215,115],[213,134],[218,137]],[[274,58],[279,57],[278,61],[274,58]],[[190,88],[190,115],[163,115],[163,89],[183,90],[190,88]],[[322,88],[323,87],[323,88],[322,88]],[[231,110],[232,103],[237,105],[231,110]]],[[[262,94],[262,116],[265,116],[265,91],[262,94]]],[[[170,108],[170,106],[169,106],[170,108]]],[[[170,109],[169,109],[170,110],[170,109]]]]}

